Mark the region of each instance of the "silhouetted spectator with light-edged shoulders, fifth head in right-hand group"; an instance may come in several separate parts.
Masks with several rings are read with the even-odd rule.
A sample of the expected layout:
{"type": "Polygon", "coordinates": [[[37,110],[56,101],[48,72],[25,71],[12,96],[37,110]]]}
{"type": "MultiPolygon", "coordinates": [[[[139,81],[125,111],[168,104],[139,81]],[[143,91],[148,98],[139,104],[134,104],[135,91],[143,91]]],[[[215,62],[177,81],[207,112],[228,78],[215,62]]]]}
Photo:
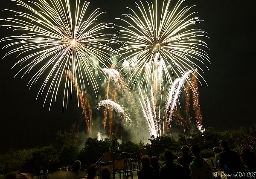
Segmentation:
{"type": "Polygon", "coordinates": [[[191,152],[195,159],[189,165],[191,179],[214,179],[211,166],[200,157],[201,149],[198,145],[192,144],[191,152]]]}

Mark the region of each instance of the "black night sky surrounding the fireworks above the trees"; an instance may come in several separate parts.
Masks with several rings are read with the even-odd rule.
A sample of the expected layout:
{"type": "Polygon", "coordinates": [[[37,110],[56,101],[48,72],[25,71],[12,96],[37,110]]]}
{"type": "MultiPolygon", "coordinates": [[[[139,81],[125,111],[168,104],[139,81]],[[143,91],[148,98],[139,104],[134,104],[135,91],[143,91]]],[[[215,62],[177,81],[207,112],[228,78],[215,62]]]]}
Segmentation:
{"type": "MultiPolygon", "coordinates": [[[[1,18],[8,17],[3,9],[17,8],[10,0],[0,2],[1,18]]],[[[173,6],[177,0],[171,2],[173,6]]],[[[199,88],[203,126],[216,131],[248,129],[256,123],[256,1],[187,0],[183,5],[196,5],[190,12],[198,12],[197,17],[204,20],[200,28],[211,38],[205,40],[211,49],[207,51],[211,64],[206,63],[209,70],[204,68],[202,73],[208,86],[202,81],[199,88]]],[[[130,12],[126,7],[134,6],[133,0],[92,0],[89,5],[106,12],[102,18],[108,23],[115,23],[114,18],[130,12]]],[[[0,27],[0,38],[9,34],[0,27]]],[[[69,129],[74,122],[85,128],[76,99],[69,101],[64,113],[61,99],[50,111],[49,103],[43,107],[44,97],[35,100],[40,83],[29,90],[29,78],[14,78],[20,67],[11,69],[17,59],[14,55],[3,58],[6,52],[0,49],[0,152],[49,145],[58,129],[69,129]]]]}

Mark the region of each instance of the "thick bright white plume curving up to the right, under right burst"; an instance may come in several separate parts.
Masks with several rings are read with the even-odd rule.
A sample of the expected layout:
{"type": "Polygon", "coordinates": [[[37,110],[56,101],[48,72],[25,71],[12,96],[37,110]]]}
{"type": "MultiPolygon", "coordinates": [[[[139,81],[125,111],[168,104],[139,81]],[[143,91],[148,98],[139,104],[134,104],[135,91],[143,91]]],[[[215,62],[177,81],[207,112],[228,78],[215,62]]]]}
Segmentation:
{"type": "Polygon", "coordinates": [[[182,78],[176,79],[175,81],[177,81],[177,82],[174,82],[174,84],[175,84],[174,88],[171,88],[171,90],[169,91],[168,101],[166,101],[166,122],[167,122],[166,127],[167,127],[167,131],[168,131],[168,128],[169,128],[169,124],[172,121],[172,114],[173,114],[173,112],[175,110],[175,107],[177,105],[181,87],[183,86],[186,79],[189,77],[190,73],[192,73],[192,71],[186,72],[183,75],[182,78]],[[173,91],[174,89],[175,89],[175,91],[173,91]],[[169,119],[167,120],[167,118],[169,118],[169,119]]]}

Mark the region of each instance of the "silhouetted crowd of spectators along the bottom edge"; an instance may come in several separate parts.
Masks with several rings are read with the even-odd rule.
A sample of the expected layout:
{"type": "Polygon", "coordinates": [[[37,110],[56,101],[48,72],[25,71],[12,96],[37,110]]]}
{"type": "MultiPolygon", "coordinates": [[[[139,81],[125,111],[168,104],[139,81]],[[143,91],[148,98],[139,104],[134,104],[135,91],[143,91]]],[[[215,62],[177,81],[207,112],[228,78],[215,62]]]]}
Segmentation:
{"type": "MultiPolygon", "coordinates": [[[[215,153],[214,164],[215,168],[219,168],[220,172],[212,172],[211,166],[207,161],[201,158],[201,149],[197,144],[192,144],[189,147],[183,145],[181,151],[182,156],[174,162],[174,156],[171,150],[164,151],[165,162],[163,166],[157,159],[157,156],[149,158],[148,155],[141,157],[142,167],[137,172],[138,179],[218,179],[218,178],[248,178],[256,179],[256,157],[249,149],[241,147],[240,155],[228,147],[226,140],[220,140],[220,147],[214,147],[215,153]],[[193,156],[189,155],[191,150],[193,156]],[[221,174],[221,175],[220,175],[221,174]]],[[[213,166],[214,167],[214,166],[213,166]]],[[[81,162],[76,160],[73,163],[72,169],[64,175],[59,169],[54,176],[54,179],[81,179],[79,170],[81,162]]],[[[96,166],[90,165],[87,169],[87,176],[84,179],[95,179],[96,166]]],[[[28,173],[17,174],[15,172],[8,173],[5,179],[29,179],[28,173]]],[[[111,172],[108,167],[102,167],[100,171],[100,179],[110,179],[111,172]]],[[[43,171],[41,179],[50,179],[48,170],[43,171]]]]}

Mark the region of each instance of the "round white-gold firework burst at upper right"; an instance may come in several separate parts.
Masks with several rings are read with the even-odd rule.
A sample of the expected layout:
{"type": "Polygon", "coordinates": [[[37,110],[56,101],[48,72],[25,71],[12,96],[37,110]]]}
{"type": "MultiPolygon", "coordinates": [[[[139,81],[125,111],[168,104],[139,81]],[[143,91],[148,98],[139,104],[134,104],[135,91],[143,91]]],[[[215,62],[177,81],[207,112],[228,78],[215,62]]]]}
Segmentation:
{"type": "MultiPolygon", "coordinates": [[[[136,2],[135,2],[136,3],[136,2]]],[[[131,10],[131,14],[124,14],[125,18],[120,19],[128,24],[128,27],[118,26],[121,30],[116,36],[123,38],[124,41],[119,49],[121,55],[125,56],[124,60],[129,63],[134,57],[137,61],[136,70],[140,73],[131,75],[131,83],[136,84],[141,72],[148,65],[148,70],[154,72],[156,68],[154,58],[159,54],[159,59],[163,59],[163,71],[166,80],[172,83],[172,74],[178,77],[189,70],[195,70],[195,66],[200,68],[196,62],[204,64],[209,61],[207,52],[199,47],[207,47],[207,44],[200,40],[201,37],[207,37],[206,32],[200,29],[191,29],[191,26],[200,23],[198,17],[193,17],[194,13],[189,14],[193,7],[181,7],[183,0],[179,0],[172,11],[169,11],[170,0],[163,2],[160,18],[157,16],[157,0],[155,8],[147,2],[147,7],[140,1],[136,3],[138,13],[131,10]],[[196,62],[192,61],[195,59],[196,62]],[[148,64],[147,64],[148,63],[148,64]]],[[[204,64],[206,66],[206,64],[204,64]]],[[[125,67],[125,66],[123,66],[125,67]]],[[[201,68],[200,68],[201,69],[201,68]]],[[[146,74],[143,78],[147,78],[146,74]]],[[[152,84],[155,79],[154,73],[151,80],[147,79],[147,85],[152,84]]]]}

